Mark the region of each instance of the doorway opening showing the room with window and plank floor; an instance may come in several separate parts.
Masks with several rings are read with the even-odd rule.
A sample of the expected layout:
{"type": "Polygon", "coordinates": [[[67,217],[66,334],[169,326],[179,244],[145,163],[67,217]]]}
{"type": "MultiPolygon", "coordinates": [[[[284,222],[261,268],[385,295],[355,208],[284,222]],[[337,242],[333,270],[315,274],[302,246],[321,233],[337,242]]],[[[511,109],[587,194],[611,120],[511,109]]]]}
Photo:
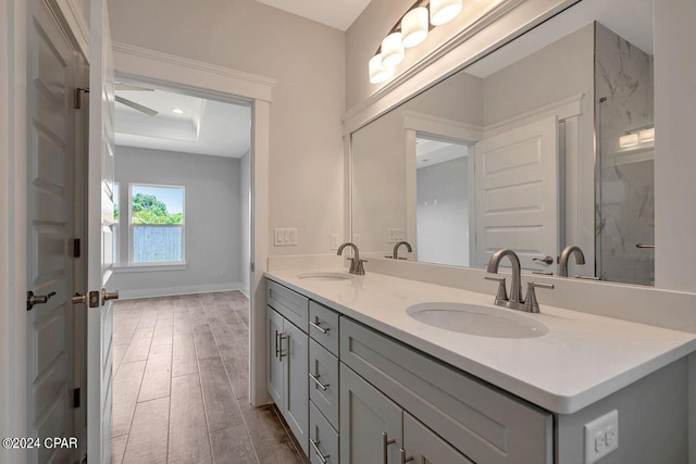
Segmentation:
{"type": "MultiPolygon", "coordinates": [[[[251,106],[116,85],[112,461],[206,461],[249,403],[251,106]]],[[[252,455],[252,454],[250,454],[252,455]]]]}

